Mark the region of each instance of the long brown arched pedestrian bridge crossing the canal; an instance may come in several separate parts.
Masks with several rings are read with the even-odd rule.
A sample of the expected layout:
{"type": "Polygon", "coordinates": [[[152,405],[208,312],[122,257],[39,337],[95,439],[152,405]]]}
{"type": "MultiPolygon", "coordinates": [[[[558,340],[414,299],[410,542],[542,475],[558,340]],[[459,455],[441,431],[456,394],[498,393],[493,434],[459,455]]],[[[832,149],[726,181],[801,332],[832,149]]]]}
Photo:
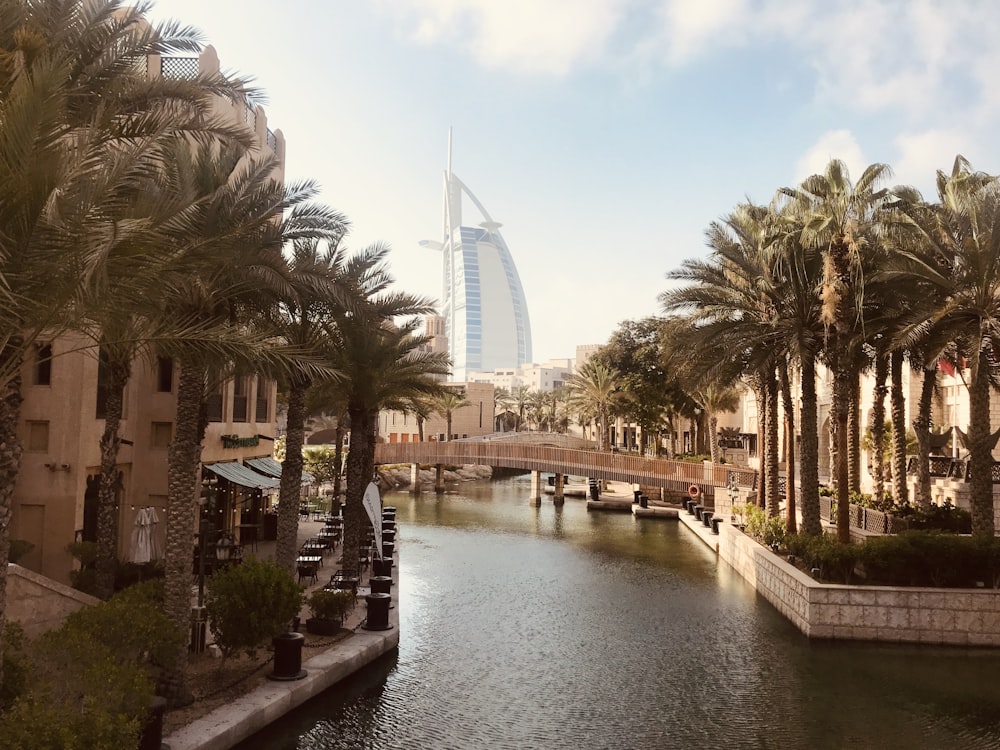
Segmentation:
{"type": "MultiPolygon", "coordinates": [[[[757,472],[746,467],[672,461],[634,453],[554,445],[560,437],[562,436],[542,437],[539,433],[507,433],[503,438],[379,443],[375,447],[375,463],[434,466],[479,464],[566,476],[595,477],[685,493],[692,484],[696,484],[702,493],[713,499],[716,489],[724,490],[731,477],[744,490],[752,489],[756,483],[757,472]],[[508,437],[511,435],[525,437],[508,437]]],[[[571,440],[574,439],[564,442],[568,444],[571,440]]],[[[576,442],[586,445],[586,441],[576,442]]]]}

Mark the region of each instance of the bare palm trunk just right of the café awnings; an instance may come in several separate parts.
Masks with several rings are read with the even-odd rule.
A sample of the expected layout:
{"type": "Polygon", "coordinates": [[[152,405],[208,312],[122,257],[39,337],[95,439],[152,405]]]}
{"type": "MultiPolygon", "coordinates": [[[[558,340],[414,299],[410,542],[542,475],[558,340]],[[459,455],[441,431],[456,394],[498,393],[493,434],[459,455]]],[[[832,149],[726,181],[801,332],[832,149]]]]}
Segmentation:
{"type": "Polygon", "coordinates": [[[306,378],[292,377],[288,388],[288,429],[285,433],[285,460],[281,462],[278,489],[278,538],[274,561],[289,573],[295,572],[299,536],[299,496],[302,494],[302,445],[305,442],[306,378]]]}

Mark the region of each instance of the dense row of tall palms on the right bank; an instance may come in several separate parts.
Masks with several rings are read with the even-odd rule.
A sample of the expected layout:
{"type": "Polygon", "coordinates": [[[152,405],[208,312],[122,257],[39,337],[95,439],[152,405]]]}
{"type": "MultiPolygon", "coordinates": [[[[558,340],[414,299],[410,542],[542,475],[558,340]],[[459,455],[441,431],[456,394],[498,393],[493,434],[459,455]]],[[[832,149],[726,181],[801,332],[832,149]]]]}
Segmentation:
{"type": "MultiPolygon", "coordinates": [[[[684,282],[660,298],[664,311],[676,316],[670,336],[697,353],[694,367],[708,382],[744,379],[756,392],[764,425],[762,497],[772,514],[778,510],[778,397],[791,468],[797,374],[799,502],[803,531],[811,534],[821,531],[816,367],[829,369],[841,541],[849,539],[850,493],[860,489],[861,374],[874,369],[877,446],[890,395],[897,503],[906,502],[904,363],[922,377],[912,427],[921,467],[916,500],[928,505],[937,372],[941,363],[961,370],[970,400],[969,424],[959,433],[970,457],[973,533],[992,536],[992,449],[1000,433],[990,431],[989,405],[1000,374],[1000,181],[961,156],[950,173],[938,172],[935,202],[910,187],[886,187],[889,178],[888,166],[873,164],[852,182],[845,165],[833,160],[823,174],[777,191],[770,205],[740,204],[712,223],[709,257],[668,274],[684,282]]],[[[880,455],[874,469],[881,491],[880,455]]]]}

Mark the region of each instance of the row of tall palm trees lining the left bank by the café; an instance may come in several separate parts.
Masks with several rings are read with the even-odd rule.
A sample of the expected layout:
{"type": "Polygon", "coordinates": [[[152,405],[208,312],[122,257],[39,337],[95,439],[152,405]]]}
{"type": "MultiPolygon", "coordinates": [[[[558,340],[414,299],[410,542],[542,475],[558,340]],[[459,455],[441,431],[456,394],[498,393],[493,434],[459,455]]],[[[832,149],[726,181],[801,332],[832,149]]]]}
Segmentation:
{"type": "Polygon", "coordinates": [[[35,342],[75,337],[100,352],[109,375],[98,511],[104,596],[117,550],[122,394],[136,361],[178,363],[165,609],[185,631],[213,384],[258,373],[287,389],[277,561],[290,570],[307,395],[346,403],[355,428],[349,561],[372,476],[372,415],[434,393],[432,376],[447,371],[442,356],[423,353],[414,323],[393,324],[431,304],[389,289],[387,249],[349,253],[345,217],[313,201],[313,183],[284,184],[280,162],[242,118],[219,114],[255,106],[246,80],[147,76],[148,56],[201,49],[190,28],[150,26],[148,10],[125,0],[0,0],[0,631],[20,370],[35,342]]]}

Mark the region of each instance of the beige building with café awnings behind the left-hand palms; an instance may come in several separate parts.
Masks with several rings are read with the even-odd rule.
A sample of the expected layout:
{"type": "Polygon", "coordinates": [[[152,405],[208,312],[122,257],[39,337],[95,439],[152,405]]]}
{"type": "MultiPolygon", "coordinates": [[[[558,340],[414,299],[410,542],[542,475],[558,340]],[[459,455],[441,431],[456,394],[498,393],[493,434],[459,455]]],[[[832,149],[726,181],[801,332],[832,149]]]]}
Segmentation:
{"type": "MultiPolygon", "coordinates": [[[[151,56],[147,70],[153,77],[189,77],[199,71],[218,71],[219,59],[208,47],[199,57],[151,56]]],[[[257,134],[258,148],[271,150],[284,163],[284,138],[280,131],[268,128],[262,108],[221,100],[219,108],[245,122],[257,134]]],[[[277,179],[283,178],[281,171],[277,179]]],[[[98,352],[88,350],[88,343],[72,335],[42,342],[21,372],[24,401],[18,436],[24,453],[14,491],[10,538],[34,545],[21,560],[24,567],[61,582],[68,582],[74,567],[67,546],[96,539],[105,393],[98,352]]],[[[159,519],[153,530],[162,549],[176,386],[176,367],[169,359],[152,365],[135,363],[119,431],[124,438],[118,464],[122,559],[130,557],[132,530],[147,508],[159,519]]],[[[231,532],[236,541],[252,543],[269,525],[268,494],[276,492],[274,475],[280,473],[280,465],[276,467],[269,459],[275,400],[275,383],[256,375],[223,382],[211,389],[208,398],[203,507],[216,528],[231,532]]],[[[150,518],[148,511],[145,516],[150,518]]]]}

